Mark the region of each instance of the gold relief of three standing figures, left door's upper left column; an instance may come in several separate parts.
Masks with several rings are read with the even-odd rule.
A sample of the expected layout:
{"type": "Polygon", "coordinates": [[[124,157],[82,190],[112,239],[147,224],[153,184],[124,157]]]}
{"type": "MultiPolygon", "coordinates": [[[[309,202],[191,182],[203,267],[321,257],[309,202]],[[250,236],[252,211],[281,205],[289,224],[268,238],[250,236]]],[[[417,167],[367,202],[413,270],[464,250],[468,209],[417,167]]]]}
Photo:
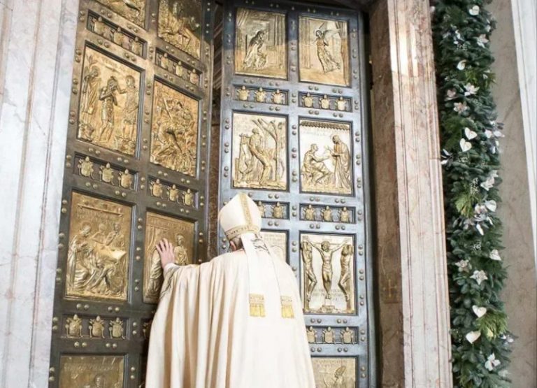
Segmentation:
{"type": "Polygon", "coordinates": [[[81,82],[78,138],[134,155],[140,73],[87,47],[81,82]]]}

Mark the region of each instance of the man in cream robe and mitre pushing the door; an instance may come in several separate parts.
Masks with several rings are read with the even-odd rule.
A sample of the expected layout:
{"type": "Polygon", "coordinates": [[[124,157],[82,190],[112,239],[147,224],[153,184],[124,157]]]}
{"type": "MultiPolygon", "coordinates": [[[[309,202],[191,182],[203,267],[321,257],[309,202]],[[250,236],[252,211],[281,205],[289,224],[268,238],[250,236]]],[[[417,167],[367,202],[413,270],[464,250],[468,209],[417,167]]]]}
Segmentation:
{"type": "Polygon", "coordinates": [[[292,269],[259,235],[252,199],[218,215],[231,251],[200,266],[173,263],[166,240],[152,322],[148,388],[313,388],[313,368],[292,269]]]}

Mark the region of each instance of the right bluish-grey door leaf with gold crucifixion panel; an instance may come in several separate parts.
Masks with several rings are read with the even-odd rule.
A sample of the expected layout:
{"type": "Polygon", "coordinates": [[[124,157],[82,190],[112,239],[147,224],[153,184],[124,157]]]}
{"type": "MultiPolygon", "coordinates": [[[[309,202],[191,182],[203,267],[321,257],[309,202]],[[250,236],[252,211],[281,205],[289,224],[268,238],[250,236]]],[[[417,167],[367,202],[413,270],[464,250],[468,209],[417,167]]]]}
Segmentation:
{"type": "Polygon", "coordinates": [[[341,8],[224,8],[219,202],[254,199],[295,271],[318,387],[375,384],[363,36],[341,8]]]}

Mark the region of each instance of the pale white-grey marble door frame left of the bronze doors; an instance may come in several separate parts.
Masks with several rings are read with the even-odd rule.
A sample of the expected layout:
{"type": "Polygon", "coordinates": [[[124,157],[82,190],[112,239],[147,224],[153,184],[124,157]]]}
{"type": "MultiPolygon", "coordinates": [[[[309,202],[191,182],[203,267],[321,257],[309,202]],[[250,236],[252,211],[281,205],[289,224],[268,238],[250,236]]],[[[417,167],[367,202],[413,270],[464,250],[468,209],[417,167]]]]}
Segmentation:
{"type": "Polygon", "coordinates": [[[0,387],[48,381],[78,0],[0,0],[0,387]]]}

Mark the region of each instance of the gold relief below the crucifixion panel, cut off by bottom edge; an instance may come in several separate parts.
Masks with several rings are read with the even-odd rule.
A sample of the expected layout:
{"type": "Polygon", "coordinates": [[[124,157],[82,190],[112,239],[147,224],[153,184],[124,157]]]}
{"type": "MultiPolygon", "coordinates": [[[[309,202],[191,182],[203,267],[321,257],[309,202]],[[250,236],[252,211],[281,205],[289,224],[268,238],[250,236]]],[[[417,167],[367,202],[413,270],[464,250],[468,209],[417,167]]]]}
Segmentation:
{"type": "Polygon", "coordinates": [[[313,376],[316,387],[356,387],[356,359],[351,357],[313,357],[313,376]]]}

